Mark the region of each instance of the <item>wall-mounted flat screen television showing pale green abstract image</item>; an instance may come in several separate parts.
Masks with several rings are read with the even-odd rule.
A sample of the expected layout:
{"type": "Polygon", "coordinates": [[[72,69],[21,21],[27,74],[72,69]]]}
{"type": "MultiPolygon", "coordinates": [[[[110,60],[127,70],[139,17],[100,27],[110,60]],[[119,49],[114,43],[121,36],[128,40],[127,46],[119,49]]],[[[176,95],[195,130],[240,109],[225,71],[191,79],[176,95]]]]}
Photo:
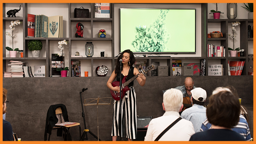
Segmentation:
{"type": "Polygon", "coordinates": [[[120,52],[195,53],[195,9],[120,8],[120,52]]]}

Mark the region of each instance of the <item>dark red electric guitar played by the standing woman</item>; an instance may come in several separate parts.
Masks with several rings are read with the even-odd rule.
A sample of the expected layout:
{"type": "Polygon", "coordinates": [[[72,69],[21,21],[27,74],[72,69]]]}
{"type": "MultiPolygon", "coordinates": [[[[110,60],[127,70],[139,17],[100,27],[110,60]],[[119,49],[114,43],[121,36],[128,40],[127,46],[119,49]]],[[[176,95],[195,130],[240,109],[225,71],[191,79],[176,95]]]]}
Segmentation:
{"type": "MultiPolygon", "coordinates": [[[[140,73],[142,74],[145,74],[147,73],[148,71],[152,70],[154,68],[154,65],[150,65],[148,67],[145,68],[145,70],[141,70],[140,73]]],[[[126,81],[126,77],[125,76],[123,79],[122,79],[122,98],[125,96],[125,93],[130,90],[130,88],[128,88],[128,84],[131,83],[132,81],[134,81],[137,77],[139,76],[139,74],[136,74],[136,76],[132,77],[131,79],[129,79],[128,81],[126,81]]],[[[114,81],[112,83],[112,86],[115,87],[115,86],[119,86],[120,85],[120,81],[114,81]]],[[[113,99],[115,100],[120,100],[120,93],[118,93],[117,91],[114,91],[114,90],[110,90],[110,93],[113,97],[113,99]]]]}

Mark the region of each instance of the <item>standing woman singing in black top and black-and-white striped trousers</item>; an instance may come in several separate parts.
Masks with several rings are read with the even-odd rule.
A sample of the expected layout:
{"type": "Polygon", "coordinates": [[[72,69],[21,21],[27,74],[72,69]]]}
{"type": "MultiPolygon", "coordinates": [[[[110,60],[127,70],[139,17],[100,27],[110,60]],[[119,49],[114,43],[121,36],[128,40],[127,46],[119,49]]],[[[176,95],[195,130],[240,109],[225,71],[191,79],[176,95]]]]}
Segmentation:
{"type": "MultiPolygon", "coordinates": [[[[122,81],[122,78],[120,79],[120,63],[119,60],[122,59],[122,78],[124,76],[128,76],[126,81],[134,77],[139,73],[138,69],[132,67],[132,65],[135,63],[135,58],[133,55],[133,52],[129,49],[122,52],[122,54],[118,57],[117,62],[115,64],[115,70],[112,72],[108,82],[107,86],[111,90],[120,92],[119,86],[112,86],[112,82],[115,80],[122,81]]],[[[137,78],[138,83],[141,86],[145,85],[146,77],[144,74],[139,74],[137,78]]],[[[136,118],[136,93],[133,88],[133,81],[129,83],[128,87],[131,90],[128,90],[125,94],[125,96],[122,98],[122,104],[121,104],[121,117],[122,117],[122,137],[124,137],[124,127],[126,127],[126,137],[128,138],[128,141],[131,141],[132,139],[135,139],[137,137],[137,118],[136,118]],[[125,121],[125,122],[124,122],[125,121]]],[[[114,110],[113,110],[113,123],[112,123],[112,140],[116,141],[117,136],[120,136],[118,122],[119,122],[119,106],[120,101],[114,100],[114,110]]]]}

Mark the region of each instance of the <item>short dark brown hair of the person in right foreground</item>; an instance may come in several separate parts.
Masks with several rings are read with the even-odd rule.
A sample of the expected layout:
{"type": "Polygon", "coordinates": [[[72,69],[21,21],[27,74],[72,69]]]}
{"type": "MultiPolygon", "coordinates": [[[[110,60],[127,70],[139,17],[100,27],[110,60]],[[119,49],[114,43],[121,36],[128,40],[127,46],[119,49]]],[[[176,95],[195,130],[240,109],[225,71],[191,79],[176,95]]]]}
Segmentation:
{"type": "Polygon", "coordinates": [[[237,97],[228,91],[210,96],[206,116],[212,125],[233,128],[239,122],[240,103],[237,97]]]}

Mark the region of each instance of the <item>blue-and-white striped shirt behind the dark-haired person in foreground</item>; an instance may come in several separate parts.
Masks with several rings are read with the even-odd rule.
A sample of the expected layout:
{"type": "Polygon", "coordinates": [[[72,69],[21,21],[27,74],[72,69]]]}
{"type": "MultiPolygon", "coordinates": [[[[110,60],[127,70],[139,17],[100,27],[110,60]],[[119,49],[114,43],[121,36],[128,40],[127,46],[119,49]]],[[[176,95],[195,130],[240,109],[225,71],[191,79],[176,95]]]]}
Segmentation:
{"type": "MultiPolygon", "coordinates": [[[[208,129],[211,129],[211,124],[208,122],[208,119],[205,119],[205,121],[202,123],[200,131],[206,131],[208,129]]],[[[238,124],[232,128],[232,130],[238,134],[241,134],[246,139],[246,141],[250,141],[252,139],[248,123],[244,116],[241,114],[238,124]]]]}

